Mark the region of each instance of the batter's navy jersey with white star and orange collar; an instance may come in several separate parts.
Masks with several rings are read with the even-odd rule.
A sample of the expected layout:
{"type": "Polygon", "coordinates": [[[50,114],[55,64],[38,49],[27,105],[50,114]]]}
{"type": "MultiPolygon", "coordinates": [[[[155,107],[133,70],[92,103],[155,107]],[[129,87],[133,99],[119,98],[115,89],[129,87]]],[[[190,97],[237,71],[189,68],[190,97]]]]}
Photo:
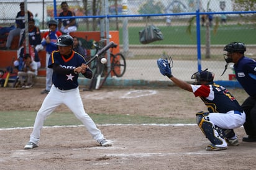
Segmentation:
{"type": "MultiPolygon", "coordinates": [[[[82,63],[86,63],[85,58],[75,51],[72,51],[72,54],[68,59],[65,59],[64,56],[60,54],[60,51],[53,51],[49,59],[48,68],[53,68],[53,64],[57,64],[62,68],[75,69],[76,67],[81,66],[82,63]]],[[[59,89],[75,89],[78,87],[78,74],[57,74],[53,71],[52,82],[54,86],[59,89]]]]}

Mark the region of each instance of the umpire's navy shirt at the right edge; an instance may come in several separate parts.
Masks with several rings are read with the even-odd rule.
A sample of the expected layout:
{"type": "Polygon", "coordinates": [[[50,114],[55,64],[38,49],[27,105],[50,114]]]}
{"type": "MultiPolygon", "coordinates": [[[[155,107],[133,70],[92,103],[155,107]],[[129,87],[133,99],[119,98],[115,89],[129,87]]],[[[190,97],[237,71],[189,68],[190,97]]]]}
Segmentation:
{"type": "Polygon", "coordinates": [[[256,61],[244,56],[234,65],[234,69],[237,81],[247,94],[256,97],[256,61]]]}

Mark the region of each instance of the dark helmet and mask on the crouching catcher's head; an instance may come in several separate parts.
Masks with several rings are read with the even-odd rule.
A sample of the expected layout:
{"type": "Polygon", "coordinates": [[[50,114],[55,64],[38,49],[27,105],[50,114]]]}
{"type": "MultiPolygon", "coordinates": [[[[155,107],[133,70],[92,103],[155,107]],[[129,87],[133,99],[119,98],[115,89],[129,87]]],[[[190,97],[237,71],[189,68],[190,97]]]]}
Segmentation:
{"type": "Polygon", "coordinates": [[[195,79],[194,85],[200,85],[201,81],[208,81],[208,84],[213,84],[214,73],[207,71],[208,68],[204,69],[204,71],[197,71],[192,74],[191,79],[195,79]]]}

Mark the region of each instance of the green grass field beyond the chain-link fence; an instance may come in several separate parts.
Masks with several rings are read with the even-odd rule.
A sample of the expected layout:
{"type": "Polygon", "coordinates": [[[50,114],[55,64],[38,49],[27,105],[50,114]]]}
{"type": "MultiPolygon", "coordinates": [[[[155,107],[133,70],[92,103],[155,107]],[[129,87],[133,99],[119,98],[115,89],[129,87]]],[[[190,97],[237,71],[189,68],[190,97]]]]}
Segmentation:
{"type": "MultiPolygon", "coordinates": [[[[153,42],[150,44],[155,45],[196,45],[196,27],[191,29],[191,35],[186,32],[188,26],[160,26],[159,29],[163,34],[163,40],[153,42]]],[[[139,42],[139,31],[144,27],[129,27],[129,44],[141,45],[139,42]]],[[[201,27],[201,44],[206,43],[206,29],[201,27]]],[[[252,25],[225,25],[217,29],[216,34],[213,34],[211,29],[211,45],[226,45],[230,43],[231,37],[235,35],[235,40],[238,42],[244,42],[245,44],[255,44],[252,35],[256,34],[256,29],[252,25]]],[[[119,30],[120,43],[122,40],[122,28],[119,30]]]]}

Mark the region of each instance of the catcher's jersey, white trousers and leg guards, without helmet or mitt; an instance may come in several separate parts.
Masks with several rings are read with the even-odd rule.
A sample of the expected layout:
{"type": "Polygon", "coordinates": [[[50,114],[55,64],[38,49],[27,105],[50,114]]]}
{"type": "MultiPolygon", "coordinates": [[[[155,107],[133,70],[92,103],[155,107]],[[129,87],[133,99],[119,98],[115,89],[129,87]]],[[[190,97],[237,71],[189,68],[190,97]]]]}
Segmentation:
{"type": "Polygon", "coordinates": [[[227,143],[224,140],[237,138],[234,128],[240,127],[245,122],[245,113],[242,107],[226,88],[217,84],[191,85],[194,96],[200,97],[208,107],[209,113],[197,114],[197,123],[213,143],[208,145],[212,150],[215,147],[225,149],[227,143]]]}

